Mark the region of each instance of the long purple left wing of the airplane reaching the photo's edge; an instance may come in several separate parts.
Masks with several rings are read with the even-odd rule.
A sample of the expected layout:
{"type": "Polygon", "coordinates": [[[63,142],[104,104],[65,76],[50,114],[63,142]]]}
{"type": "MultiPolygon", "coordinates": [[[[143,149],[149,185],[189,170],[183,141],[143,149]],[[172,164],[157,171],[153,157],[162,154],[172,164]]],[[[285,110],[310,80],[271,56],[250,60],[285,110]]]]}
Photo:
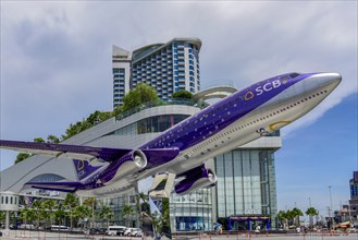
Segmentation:
{"type": "Polygon", "coordinates": [[[65,155],[71,158],[94,159],[99,158],[106,161],[113,161],[129,153],[132,149],[92,147],[69,144],[34,143],[0,140],[0,148],[42,154],[59,157],[65,155]]]}

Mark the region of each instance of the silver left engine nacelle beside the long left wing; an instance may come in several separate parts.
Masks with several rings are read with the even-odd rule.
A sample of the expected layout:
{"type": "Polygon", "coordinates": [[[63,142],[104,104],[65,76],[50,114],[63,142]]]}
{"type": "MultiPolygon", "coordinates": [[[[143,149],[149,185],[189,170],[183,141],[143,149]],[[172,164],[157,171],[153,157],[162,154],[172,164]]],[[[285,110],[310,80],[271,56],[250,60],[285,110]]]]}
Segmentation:
{"type": "Polygon", "coordinates": [[[122,164],[116,170],[115,179],[133,175],[133,172],[144,169],[148,163],[146,155],[140,149],[132,151],[121,161],[122,164]]]}

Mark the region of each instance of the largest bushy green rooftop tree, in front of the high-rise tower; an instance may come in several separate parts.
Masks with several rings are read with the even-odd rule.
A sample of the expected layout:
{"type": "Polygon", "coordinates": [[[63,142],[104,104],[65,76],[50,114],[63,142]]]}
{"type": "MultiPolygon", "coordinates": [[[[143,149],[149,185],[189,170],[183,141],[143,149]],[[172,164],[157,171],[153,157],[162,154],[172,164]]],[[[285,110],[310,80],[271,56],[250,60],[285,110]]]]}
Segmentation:
{"type": "Polygon", "coordinates": [[[139,83],[134,89],[124,95],[122,110],[127,111],[135,107],[139,107],[145,103],[158,99],[159,97],[153,87],[146,83],[139,83]]]}

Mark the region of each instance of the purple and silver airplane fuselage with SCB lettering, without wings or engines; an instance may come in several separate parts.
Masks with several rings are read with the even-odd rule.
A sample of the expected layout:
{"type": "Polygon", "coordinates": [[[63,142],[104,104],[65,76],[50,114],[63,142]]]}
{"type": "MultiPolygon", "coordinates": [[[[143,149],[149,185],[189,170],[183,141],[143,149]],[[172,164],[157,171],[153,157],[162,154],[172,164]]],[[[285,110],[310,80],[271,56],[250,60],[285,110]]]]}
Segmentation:
{"type": "Polygon", "coordinates": [[[96,190],[88,188],[89,192],[85,192],[103,194],[158,172],[185,172],[303,117],[340,82],[341,75],[336,73],[291,73],[254,84],[138,146],[138,149],[178,148],[180,154],[174,159],[168,163],[148,161],[141,171],[126,178],[118,173],[120,164],[112,163],[86,180],[90,183],[102,179],[100,188],[96,185],[96,190]]]}

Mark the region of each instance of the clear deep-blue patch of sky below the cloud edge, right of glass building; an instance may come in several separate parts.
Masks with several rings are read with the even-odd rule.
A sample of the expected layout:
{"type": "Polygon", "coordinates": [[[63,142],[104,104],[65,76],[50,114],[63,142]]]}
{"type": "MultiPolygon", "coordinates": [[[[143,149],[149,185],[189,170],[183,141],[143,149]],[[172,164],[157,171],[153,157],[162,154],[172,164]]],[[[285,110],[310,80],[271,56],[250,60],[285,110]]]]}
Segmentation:
{"type": "Polygon", "coordinates": [[[275,155],[281,209],[293,208],[295,202],[307,209],[310,199],[324,216],[331,204],[329,185],[332,207],[347,204],[349,179],[358,170],[357,96],[349,95],[316,122],[284,137],[275,155]]]}

